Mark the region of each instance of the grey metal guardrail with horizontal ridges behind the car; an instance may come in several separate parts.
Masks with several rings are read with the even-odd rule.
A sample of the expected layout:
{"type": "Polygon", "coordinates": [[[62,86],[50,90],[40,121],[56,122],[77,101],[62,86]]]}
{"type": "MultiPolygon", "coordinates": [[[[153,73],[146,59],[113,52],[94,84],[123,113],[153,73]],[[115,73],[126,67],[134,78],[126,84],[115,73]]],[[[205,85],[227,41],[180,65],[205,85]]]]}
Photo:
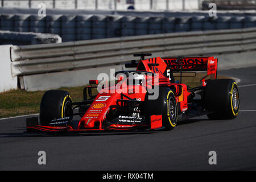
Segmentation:
{"type": "Polygon", "coordinates": [[[11,47],[13,76],[123,64],[133,53],[200,56],[256,50],[256,28],[83,40],[11,47]]]}

